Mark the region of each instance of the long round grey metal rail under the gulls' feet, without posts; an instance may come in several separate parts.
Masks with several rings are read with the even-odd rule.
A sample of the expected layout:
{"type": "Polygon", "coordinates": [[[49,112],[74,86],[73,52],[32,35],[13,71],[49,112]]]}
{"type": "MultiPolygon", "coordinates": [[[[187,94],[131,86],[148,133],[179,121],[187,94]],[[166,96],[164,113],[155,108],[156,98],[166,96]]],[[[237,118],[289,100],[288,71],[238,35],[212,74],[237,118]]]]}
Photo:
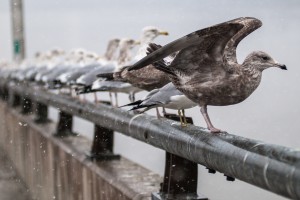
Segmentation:
{"type": "Polygon", "coordinates": [[[300,199],[300,151],[27,86],[9,90],[279,195],[300,199]]]}

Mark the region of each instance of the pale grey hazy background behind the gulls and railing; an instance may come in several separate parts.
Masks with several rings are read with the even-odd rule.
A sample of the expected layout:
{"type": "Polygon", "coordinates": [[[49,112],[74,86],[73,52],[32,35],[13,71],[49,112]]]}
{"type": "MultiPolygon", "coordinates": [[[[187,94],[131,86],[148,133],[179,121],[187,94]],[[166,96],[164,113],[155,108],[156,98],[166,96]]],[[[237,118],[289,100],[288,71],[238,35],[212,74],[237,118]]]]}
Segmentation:
{"type": "MultiPolygon", "coordinates": [[[[48,0],[23,1],[26,56],[53,47],[82,47],[103,54],[109,39],[138,39],[143,27],[152,25],[170,33],[154,42],[166,44],[183,35],[242,16],[260,19],[263,26],[238,46],[238,61],[254,50],[268,52],[288,71],[264,71],[259,88],[245,102],[227,107],[209,107],[215,126],[229,133],[267,143],[300,148],[300,1],[179,1],[179,0],[48,0]]],[[[12,59],[9,1],[0,1],[0,59],[12,59]]],[[[139,93],[136,99],[146,93],[139,93]]],[[[106,95],[106,94],[105,94],[106,95]]],[[[103,98],[108,98],[107,96],[103,98]]],[[[120,104],[128,103],[122,96],[120,104]]],[[[199,108],[186,111],[194,123],[205,126],[199,108]]],[[[149,112],[154,114],[154,112],[149,112]]],[[[51,109],[57,120],[57,111],[51,109]]],[[[75,119],[74,129],[92,138],[93,125],[75,119]]],[[[115,152],[159,174],[164,170],[164,152],[116,134],[115,152]]],[[[208,174],[199,166],[199,193],[210,199],[284,199],[241,181],[227,182],[223,174],[208,174]]]]}

